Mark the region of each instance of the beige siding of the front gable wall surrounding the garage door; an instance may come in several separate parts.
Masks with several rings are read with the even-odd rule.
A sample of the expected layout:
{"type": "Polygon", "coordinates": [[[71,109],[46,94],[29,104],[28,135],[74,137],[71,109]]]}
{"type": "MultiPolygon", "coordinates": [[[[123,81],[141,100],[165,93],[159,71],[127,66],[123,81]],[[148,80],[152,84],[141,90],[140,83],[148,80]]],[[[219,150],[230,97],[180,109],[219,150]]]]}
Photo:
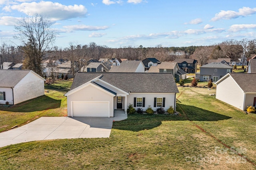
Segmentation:
{"type": "Polygon", "coordinates": [[[104,91],[88,85],[87,87],[68,95],[68,116],[71,116],[72,101],[109,101],[110,102],[110,117],[113,117],[113,96],[104,91]],[[92,97],[92,99],[91,99],[92,97]]]}

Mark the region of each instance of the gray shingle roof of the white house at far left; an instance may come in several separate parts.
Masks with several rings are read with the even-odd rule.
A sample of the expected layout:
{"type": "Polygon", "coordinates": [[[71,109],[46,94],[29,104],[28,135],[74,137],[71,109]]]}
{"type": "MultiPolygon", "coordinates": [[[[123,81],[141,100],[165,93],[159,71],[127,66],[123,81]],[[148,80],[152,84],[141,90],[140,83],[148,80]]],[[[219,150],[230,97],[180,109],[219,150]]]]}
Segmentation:
{"type": "Polygon", "coordinates": [[[2,70],[0,69],[0,87],[14,87],[30,70],[2,70]]]}

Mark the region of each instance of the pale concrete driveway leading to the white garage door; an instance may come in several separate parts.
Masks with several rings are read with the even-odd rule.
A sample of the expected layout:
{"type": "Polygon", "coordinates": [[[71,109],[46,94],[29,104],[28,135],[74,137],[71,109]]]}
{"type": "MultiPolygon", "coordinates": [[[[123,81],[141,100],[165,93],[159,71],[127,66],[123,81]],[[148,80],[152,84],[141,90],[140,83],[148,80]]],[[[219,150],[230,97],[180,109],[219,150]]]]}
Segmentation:
{"type": "Polygon", "coordinates": [[[0,133],[0,147],[35,140],[108,138],[112,123],[112,117],[41,117],[0,133]]]}

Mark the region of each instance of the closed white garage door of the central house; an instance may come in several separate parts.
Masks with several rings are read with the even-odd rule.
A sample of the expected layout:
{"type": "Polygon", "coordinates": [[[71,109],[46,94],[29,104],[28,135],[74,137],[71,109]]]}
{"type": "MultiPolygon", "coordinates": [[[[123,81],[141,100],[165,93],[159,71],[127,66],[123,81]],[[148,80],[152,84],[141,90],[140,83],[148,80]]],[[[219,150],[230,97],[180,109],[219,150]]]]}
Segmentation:
{"type": "Polygon", "coordinates": [[[73,101],[73,117],[109,117],[109,101],[73,101]]]}

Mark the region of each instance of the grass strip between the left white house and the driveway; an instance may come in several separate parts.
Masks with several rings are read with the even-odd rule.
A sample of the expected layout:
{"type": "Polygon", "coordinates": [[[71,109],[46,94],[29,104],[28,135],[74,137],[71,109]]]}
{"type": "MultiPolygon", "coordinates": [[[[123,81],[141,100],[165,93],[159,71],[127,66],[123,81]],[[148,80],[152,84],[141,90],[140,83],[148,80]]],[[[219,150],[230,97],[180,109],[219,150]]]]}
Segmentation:
{"type": "Polygon", "coordinates": [[[45,85],[44,96],[25,101],[12,107],[0,107],[0,132],[10,130],[15,125],[25,125],[40,117],[66,116],[66,97],[72,81],[57,81],[53,85],[45,85]]]}

